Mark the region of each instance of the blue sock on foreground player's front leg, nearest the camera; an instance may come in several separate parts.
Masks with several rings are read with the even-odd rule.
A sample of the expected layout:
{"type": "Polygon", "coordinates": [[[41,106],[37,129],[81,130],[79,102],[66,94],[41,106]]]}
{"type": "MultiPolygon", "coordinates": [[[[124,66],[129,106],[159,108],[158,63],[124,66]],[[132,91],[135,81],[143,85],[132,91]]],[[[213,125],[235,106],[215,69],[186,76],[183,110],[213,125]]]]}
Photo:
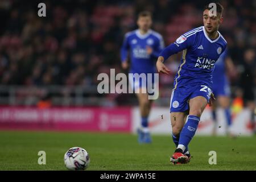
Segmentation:
{"type": "Polygon", "coordinates": [[[183,151],[187,149],[189,142],[196,133],[196,129],[200,118],[196,115],[188,115],[187,123],[185,123],[183,129],[180,133],[179,145],[183,145],[185,148],[182,148],[183,151]]]}

